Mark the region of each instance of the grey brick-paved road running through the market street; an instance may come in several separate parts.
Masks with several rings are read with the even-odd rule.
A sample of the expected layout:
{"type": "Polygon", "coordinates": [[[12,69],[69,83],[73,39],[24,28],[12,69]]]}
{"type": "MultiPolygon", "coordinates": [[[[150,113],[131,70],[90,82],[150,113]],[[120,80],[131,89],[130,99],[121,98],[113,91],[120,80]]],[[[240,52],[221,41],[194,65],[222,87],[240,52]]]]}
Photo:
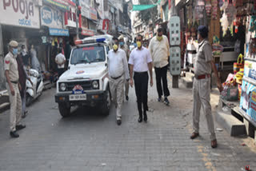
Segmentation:
{"type": "MultiPolygon", "coordinates": [[[[211,149],[204,116],[201,137],[191,141],[191,89],[170,92],[168,107],[156,101],[155,86],[149,89],[149,121],[140,124],[131,89],[118,126],[114,108],[108,117],[84,108],[63,119],[54,103],[55,89],[47,90],[29,108],[23,120],[27,128],[18,139],[9,136],[9,111],[0,114],[0,170],[238,171],[245,165],[256,169],[254,148],[241,145],[250,145],[248,138],[217,132],[218,149],[211,149]]],[[[213,104],[216,101],[215,96],[213,104]]]]}

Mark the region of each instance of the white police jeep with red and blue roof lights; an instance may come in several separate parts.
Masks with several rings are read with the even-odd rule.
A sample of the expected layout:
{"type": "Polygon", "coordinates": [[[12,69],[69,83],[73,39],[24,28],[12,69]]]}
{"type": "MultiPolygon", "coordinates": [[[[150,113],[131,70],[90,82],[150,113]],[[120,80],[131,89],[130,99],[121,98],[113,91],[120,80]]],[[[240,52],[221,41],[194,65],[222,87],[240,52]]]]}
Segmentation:
{"type": "Polygon", "coordinates": [[[109,114],[111,97],[107,55],[111,43],[110,35],[75,42],[68,70],[57,82],[55,101],[62,117],[68,117],[74,105],[97,106],[103,114],[109,114]]]}

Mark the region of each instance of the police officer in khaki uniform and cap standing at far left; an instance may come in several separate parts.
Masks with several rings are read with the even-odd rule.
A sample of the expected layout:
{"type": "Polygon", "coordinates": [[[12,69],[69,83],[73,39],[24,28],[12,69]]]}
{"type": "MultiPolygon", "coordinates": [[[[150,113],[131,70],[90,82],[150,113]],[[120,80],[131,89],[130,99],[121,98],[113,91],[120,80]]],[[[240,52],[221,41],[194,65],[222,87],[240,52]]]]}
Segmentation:
{"type": "Polygon", "coordinates": [[[9,53],[6,54],[4,59],[6,88],[10,100],[10,137],[19,137],[17,131],[26,127],[26,125],[20,123],[22,118],[22,100],[19,93],[17,54],[18,42],[11,41],[9,43],[9,53]]]}

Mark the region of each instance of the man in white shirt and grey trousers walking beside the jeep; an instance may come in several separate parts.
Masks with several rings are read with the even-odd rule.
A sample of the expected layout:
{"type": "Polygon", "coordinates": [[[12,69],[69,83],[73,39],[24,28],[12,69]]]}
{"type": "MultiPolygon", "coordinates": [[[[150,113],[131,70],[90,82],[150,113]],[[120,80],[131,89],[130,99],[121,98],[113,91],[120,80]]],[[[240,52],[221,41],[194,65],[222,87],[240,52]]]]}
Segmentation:
{"type": "Polygon", "coordinates": [[[122,124],[122,102],[124,98],[124,83],[129,81],[129,70],[124,50],[118,48],[118,38],[113,38],[113,50],[109,52],[109,76],[112,100],[117,108],[117,124],[122,124]]]}

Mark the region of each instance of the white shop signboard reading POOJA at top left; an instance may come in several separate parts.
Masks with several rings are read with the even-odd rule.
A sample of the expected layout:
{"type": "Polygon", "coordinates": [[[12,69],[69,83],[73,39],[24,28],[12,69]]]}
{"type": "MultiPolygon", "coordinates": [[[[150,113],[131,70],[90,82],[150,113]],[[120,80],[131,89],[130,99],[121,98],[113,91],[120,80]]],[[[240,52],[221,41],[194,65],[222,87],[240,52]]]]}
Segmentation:
{"type": "Polygon", "coordinates": [[[39,29],[39,8],[33,0],[1,0],[0,23],[39,29]]]}

